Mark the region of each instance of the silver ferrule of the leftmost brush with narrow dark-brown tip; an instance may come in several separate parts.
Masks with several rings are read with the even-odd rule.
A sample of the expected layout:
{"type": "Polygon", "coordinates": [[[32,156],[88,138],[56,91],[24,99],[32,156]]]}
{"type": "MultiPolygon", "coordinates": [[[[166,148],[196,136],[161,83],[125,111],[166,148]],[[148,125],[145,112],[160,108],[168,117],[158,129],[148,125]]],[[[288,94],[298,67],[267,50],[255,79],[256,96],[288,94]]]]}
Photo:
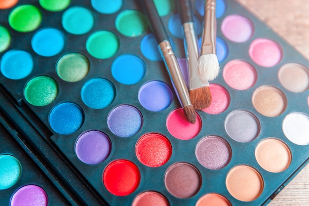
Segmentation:
{"type": "Polygon", "coordinates": [[[169,77],[174,84],[176,94],[182,105],[182,107],[192,105],[187,85],[182,76],[179,64],[175,57],[174,51],[169,41],[162,41],[158,45],[161,55],[163,57],[166,70],[169,74],[169,77]]]}

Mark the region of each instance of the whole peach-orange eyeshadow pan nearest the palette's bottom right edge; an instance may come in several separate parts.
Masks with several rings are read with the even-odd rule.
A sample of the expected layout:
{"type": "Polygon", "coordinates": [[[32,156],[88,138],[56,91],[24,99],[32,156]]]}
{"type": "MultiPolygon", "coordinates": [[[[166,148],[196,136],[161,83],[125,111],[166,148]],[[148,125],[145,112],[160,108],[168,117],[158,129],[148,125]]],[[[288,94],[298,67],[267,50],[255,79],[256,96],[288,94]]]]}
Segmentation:
{"type": "Polygon", "coordinates": [[[261,195],[264,181],[255,168],[248,165],[237,165],[229,171],[226,186],[235,199],[250,202],[261,195]]]}

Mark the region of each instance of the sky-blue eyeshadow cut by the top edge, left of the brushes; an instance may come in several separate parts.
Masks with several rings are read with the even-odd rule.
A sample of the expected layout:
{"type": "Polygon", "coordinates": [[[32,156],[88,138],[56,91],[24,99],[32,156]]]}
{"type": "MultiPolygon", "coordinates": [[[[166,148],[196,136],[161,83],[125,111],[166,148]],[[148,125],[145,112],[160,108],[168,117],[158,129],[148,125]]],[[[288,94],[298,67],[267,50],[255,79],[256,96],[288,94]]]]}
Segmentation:
{"type": "Polygon", "coordinates": [[[103,14],[112,14],[122,6],[122,0],[91,0],[92,7],[103,14]]]}

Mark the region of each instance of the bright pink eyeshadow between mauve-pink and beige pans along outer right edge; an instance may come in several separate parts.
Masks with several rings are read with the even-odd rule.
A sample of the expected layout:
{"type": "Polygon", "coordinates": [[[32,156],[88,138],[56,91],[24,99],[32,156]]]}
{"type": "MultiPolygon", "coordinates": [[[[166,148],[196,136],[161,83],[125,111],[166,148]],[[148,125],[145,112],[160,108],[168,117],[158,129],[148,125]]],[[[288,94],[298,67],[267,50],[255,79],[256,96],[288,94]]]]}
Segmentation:
{"type": "Polygon", "coordinates": [[[249,48],[251,59],[262,67],[273,67],[282,58],[282,48],[275,41],[269,39],[256,39],[249,48]]]}

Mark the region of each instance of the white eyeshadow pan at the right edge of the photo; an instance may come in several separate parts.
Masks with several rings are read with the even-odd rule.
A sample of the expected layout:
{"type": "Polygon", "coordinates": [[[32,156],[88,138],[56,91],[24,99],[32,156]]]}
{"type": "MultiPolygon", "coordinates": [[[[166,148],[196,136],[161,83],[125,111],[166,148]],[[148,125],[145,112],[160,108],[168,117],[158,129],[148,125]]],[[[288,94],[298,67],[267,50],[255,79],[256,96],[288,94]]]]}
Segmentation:
{"type": "Polygon", "coordinates": [[[309,117],[306,114],[294,112],[288,114],[282,123],[285,136],[294,144],[309,145],[309,117]]]}

